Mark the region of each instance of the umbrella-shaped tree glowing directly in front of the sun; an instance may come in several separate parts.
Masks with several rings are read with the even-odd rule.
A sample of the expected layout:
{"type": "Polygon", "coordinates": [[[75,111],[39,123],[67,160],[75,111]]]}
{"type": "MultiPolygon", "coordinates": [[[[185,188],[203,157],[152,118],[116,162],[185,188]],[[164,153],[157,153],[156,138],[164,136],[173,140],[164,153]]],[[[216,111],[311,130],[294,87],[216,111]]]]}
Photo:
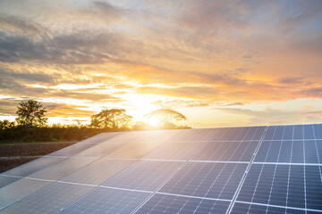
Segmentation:
{"type": "Polygon", "coordinates": [[[148,119],[157,118],[164,128],[175,128],[174,120],[186,120],[187,118],[180,112],[171,109],[159,109],[145,114],[148,119]]]}

